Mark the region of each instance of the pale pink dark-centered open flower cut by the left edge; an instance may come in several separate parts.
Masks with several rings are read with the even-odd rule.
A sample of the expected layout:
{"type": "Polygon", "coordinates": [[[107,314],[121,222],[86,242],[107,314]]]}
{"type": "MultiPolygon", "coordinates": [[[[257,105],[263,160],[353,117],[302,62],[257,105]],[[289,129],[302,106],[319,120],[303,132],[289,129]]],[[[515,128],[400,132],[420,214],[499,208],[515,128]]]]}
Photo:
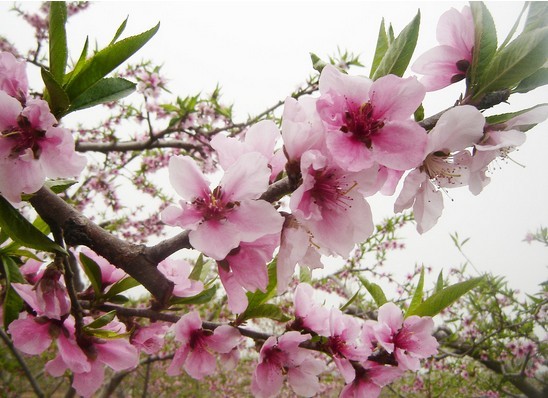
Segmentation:
{"type": "Polygon", "coordinates": [[[0,193],[20,202],[22,193],[38,191],[46,177],[75,177],[86,157],[74,150],[74,139],[57,123],[48,103],[31,99],[25,107],[0,91],[0,193]]]}

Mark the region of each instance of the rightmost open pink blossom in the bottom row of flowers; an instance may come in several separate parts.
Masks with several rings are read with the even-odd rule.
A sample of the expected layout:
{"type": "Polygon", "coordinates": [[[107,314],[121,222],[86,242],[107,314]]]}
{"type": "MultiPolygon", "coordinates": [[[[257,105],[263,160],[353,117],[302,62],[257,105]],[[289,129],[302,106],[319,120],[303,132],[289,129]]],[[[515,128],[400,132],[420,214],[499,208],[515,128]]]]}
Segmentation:
{"type": "Polygon", "coordinates": [[[412,315],[404,320],[400,308],[386,303],[379,308],[377,321],[374,331],[378,343],[388,353],[394,353],[402,370],[418,370],[420,359],[437,354],[439,344],[432,336],[431,317],[412,315]]]}

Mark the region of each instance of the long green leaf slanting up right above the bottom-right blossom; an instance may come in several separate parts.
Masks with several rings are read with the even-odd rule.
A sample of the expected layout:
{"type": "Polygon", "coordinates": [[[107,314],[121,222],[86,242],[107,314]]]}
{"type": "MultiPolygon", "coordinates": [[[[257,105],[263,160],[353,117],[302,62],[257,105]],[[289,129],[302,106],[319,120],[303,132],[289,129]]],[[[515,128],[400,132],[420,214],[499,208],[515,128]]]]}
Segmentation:
{"type": "Polygon", "coordinates": [[[439,314],[445,308],[449,307],[463,295],[470,290],[478,286],[484,277],[472,278],[464,282],[459,282],[454,285],[448,286],[442,289],[432,296],[424,300],[419,306],[415,307],[413,311],[408,311],[406,316],[418,315],[418,316],[434,316],[439,314]]]}

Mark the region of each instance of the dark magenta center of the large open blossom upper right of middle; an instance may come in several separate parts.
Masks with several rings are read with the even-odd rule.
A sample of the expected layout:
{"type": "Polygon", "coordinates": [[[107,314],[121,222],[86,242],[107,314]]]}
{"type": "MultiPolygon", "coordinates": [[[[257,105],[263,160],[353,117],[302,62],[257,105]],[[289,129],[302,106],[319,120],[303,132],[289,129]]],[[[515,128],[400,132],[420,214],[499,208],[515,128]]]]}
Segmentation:
{"type": "Polygon", "coordinates": [[[363,142],[367,148],[372,146],[372,137],[384,127],[384,121],[373,117],[373,105],[366,102],[359,107],[349,107],[344,114],[343,133],[352,134],[352,137],[363,142]]]}

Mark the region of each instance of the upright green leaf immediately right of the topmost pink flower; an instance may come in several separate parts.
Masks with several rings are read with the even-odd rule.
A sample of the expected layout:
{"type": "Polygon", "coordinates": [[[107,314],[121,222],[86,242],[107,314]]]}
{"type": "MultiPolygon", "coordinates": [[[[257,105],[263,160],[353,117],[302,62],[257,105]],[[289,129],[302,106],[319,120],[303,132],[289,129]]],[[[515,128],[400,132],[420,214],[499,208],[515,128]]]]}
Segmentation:
{"type": "MultiPolygon", "coordinates": [[[[497,30],[491,13],[481,1],[470,2],[474,18],[474,51],[470,65],[470,85],[472,92],[484,85],[484,72],[497,51],[497,30]]],[[[485,74],[489,77],[489,75],[485,74]]]]}

